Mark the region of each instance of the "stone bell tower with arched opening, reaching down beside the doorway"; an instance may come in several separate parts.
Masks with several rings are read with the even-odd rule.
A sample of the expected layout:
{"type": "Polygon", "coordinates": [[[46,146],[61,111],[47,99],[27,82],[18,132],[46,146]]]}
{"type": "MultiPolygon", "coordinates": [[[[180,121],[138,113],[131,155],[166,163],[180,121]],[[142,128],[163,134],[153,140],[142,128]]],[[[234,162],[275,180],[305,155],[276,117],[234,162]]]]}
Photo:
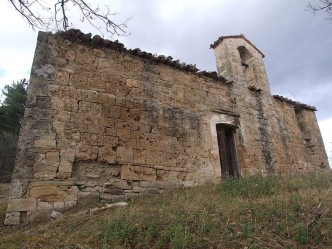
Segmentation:
{"type": "Polygon", "coordinates": [[[222,36],[211,45],[217,72],[229,84],[231,109],[241,114],[242,141],[239,151],[250,158],[250,166],[241,162],[242,171],[256,165],[258,171],[276,171],[277,129],[274,100],[267,79],[264,54],[244,35],[222,36]],[[242,151],[241,148],[245,148],[242,151]],[[244,152],[245,151],[245,152],[244,152]]]}

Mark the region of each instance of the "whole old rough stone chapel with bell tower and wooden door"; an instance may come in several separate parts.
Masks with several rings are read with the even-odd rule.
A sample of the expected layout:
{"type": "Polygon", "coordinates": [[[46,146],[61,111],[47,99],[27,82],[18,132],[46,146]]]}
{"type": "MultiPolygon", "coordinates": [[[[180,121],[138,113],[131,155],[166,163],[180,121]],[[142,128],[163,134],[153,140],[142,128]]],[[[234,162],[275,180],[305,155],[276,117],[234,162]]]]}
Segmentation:
{"type": "Polygon", "coordinates": [[[328,170],[315,108],[272,96],[243,35],[217,71],[91,38],[40,32],[5,224],[252,174],[328,170]]]}

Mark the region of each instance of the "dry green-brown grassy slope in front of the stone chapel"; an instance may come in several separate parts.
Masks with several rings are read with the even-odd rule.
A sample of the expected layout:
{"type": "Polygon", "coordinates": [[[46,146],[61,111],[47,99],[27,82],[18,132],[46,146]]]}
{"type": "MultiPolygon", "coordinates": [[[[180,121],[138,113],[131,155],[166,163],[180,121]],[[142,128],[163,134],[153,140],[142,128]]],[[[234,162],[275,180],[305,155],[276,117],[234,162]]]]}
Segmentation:
{"type": "Polygon", "coordinates": [[[0,248],[332,248],[331,203],[332,174],[229,179],[97,215],[0,226],[0,248]]]}

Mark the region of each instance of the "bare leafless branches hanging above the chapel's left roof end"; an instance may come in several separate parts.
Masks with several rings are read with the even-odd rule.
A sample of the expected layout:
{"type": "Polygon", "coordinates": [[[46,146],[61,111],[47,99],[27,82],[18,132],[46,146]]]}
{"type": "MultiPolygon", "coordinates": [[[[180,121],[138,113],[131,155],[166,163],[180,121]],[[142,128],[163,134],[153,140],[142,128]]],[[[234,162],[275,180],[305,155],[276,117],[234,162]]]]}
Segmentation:
{"type": "Polygon", "coordinates": [[[84,0],[9,0],[15,10],[29,23],[33,29],[41,30],[67,30],[72,26],[69,21],[69,9],[80,13],[80,21],[87,21],[102,35],[103,24],[105,30],[113,35],[126,34],[127,19],[123,23],[112,21],[117,12],[111,12],[108,5],[101,10],[98,6],[92,6],[84,0]],[[49,3],[52,2],[52,3],[49,3]],[[43,13],[43,14],[42,14],[43,13]]]}

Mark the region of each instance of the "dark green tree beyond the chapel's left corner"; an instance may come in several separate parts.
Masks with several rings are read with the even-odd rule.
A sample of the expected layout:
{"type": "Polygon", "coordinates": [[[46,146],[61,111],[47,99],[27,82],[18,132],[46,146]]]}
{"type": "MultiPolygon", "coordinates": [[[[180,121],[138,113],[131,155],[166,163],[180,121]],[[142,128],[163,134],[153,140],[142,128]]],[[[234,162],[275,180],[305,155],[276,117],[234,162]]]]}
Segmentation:
{"type": "Polygon", "coordinates": [[[9,181],[14,169],[17,140],[27,98],[26,79],[6,85],[0,106],[0,182],[9,181]]]}

